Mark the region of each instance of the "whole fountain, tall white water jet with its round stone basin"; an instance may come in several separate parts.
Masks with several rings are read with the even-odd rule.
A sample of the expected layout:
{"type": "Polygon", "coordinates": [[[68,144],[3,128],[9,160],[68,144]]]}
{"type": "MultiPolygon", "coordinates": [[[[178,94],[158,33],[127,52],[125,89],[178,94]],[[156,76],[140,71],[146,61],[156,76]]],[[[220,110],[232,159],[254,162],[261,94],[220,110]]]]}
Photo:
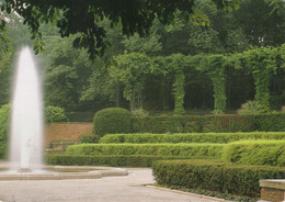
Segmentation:
{"type": "Polygon", "coordinates": [[[39,74],[30,48],[24,47],[19,57],[14,78],[10,122],[10,162],[9,168],[5,168],[9,171],[0,172],[0,180],[94,179],[127,175],[127,171],[121,168],[43,166],[43,131],[39,74]]]}

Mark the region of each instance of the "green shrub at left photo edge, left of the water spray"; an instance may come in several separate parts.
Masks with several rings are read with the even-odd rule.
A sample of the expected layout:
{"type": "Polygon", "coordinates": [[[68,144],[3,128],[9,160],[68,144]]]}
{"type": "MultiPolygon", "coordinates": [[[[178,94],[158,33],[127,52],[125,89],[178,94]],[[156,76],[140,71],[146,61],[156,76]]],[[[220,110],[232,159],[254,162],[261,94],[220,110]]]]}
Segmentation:
{"type": "Polygon", "coordinates": [[[0,158],[7,157],[10,104],[0,108],[0,158]]]}

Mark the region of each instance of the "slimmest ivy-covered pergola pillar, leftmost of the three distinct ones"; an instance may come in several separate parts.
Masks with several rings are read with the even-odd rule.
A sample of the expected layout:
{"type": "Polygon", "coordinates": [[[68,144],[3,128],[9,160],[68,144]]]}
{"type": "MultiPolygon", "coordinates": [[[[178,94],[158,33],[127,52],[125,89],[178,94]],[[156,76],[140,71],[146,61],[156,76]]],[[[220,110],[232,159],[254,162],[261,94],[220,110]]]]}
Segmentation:
{"type": "Polygon", "coordinates": [[[185,96],[185,89],[184,89],[184,82],[185,82],[185,75],[182,70],[178,71],[175,74],[175,81],[173,83],[173,94],[175,99],[174,103],[174,114],[184,114],[184,96],[185,96]]]}

